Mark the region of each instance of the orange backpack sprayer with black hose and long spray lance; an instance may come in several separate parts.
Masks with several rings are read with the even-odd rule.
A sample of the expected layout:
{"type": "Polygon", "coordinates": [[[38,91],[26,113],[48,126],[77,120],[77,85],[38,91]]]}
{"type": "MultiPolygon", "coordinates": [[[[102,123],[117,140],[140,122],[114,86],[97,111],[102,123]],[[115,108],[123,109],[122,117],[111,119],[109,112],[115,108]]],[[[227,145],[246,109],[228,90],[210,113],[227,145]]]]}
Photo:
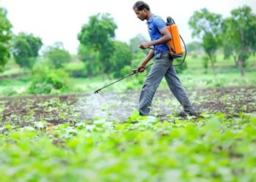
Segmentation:
{"type": "MultiPolygon", "coordinates": [[[[186,55],[187,55],[187,47],[186,47],[186,44],[184,43],[184,40],[182,39],[182,37],[179,35],[178,33],[178,27],[176,25],[176,23],[174,22],[173,18],[172,17],[167,17],[167,30],[169,31],[170,35],[172,36],[172,39],[170,39],[170,41],[168,41],[166,44],[167,44],[167,47],[169,47],[169,53],[171,55],[171,57],[173,59],[175,58],[181,58],[182,55],[183,55],[183,50],[182,50],[182,47],[181,47],[181,40],[183,41],[183,44],[184,44],[184,47],[185,47],[185,55],[184,55],[184,59],[181,61],[180,64],[178,65],[173,65],[173,66],[181,66],[182,63],[184,63],[184,60],[186,58],[186,55]]],[[[148,49],[151,49],[151,50],[156,50],[154,49],[153,47],[148,47],[148,49]]],[[[160,52],[165,52],[165,51],[162,51],[162,50],[159,50],[160,52]]],[[[151,66],[153,63],[149,64],[145,70],[151,66]]],[[[120,82],[121,80],[123,79],[126,79],[127,77],[129,76],[132,76],[134,74],[138,74],[138,70],[135,69],[135,70],[132,70],[132,73],[127,75],[127,76],[124,76],[123,78],[121,79],[118,79],[116,80],[116,82],[120,82]]],[[[99,90],[96,90],[94,93],[99,93],[100,90],[102,89],[105,89],[106,87],[109,87],[110,85],[112,84],[115,84],[116,82],[113,82],[113,83],[110,83],[108,85],[106,85],[105,87],[102,87],[100,88],[99,90]]]]}

